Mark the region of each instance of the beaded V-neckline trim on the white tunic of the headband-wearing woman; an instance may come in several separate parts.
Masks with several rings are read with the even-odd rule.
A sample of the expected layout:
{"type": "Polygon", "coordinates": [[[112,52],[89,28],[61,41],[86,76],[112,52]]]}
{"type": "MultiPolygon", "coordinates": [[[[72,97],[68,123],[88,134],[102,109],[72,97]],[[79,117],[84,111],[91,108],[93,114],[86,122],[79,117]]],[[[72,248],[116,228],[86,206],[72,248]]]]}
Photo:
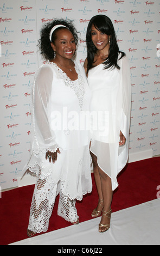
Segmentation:
{"type": "Polygon", "coordinates": [[[63,70],[61,68],[59,68],[59,66],[57,66],[56,63],[54,63],[54,62],[49,62],[49,63],[56,67],[60,78],[65,82],[65,86],[70,87],[74,90],[75,95],[79,99],[80,110],[82,110],[82,106],[84,103],[84,96],[85,96],[84,78],[82,77],[80,70],[79,70],[78,66],[76,65],[76,63],[74,62],[75,71],[76,71],[76,74],[78,74],[78,83],[76,83],[77,80],[72,81],[67,76],[67,74],[65,72],[63,72],[63,70]]]}

